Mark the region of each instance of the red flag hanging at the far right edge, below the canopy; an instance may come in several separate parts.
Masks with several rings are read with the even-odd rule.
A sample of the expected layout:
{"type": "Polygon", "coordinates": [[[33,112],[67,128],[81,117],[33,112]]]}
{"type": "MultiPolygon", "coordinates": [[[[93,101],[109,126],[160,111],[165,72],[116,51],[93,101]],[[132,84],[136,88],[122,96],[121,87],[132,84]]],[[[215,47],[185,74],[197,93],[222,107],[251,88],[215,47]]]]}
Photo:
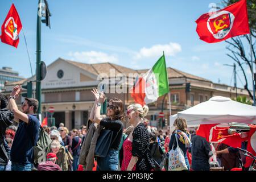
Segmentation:
{"type": "MultiPolygon", "coordinates": [[[[253,154],[254,156],[256,156],[256,126],[250,125],[250,127],[251,128],[249,132],[249,139],[246,150],[248,152],[251,152],[251,154],[253,154]]],[[[246,157],[245,167],[250,167],[251,162],[253,162],[253,159],[246,157]]]]}

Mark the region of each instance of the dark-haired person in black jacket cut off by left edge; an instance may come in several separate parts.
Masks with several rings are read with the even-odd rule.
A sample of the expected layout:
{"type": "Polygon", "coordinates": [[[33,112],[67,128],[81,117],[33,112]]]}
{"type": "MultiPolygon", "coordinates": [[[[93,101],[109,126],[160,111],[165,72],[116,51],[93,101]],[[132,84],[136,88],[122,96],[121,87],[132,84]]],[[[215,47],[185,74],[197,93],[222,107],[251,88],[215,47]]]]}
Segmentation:
{"type": "Polygon", "coordinates": [[[5,171],[6,165],[10,159],[10,147],[5,141],[5,131],[13,122],[14,115],[9,109],[6,109],[8,98],[0,93],[0,171],[5,171]]]}

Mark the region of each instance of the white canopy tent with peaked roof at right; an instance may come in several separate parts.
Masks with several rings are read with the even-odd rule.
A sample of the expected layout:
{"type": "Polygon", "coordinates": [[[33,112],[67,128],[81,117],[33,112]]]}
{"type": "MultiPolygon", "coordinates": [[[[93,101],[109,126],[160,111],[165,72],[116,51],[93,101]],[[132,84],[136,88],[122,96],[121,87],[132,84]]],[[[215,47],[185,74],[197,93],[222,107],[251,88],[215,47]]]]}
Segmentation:
{"type": "Polygon", "coordinates": [[[176,118],[185,118],[188,127],[213,123],[256,123],[256,107],[216,96],[170,117],[170,126],[176,118]]]}

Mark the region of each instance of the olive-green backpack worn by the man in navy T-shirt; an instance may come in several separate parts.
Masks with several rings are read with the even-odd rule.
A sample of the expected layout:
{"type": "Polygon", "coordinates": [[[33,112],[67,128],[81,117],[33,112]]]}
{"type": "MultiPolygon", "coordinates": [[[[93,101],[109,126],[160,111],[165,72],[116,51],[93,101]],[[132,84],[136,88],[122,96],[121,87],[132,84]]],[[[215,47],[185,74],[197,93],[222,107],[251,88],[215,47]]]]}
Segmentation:
{"type": "MultiPolygon", "coordinates": [[[[33,137],[34,140],[34,137],[33,137]]],[[[34,146],[34,164],[37,167],[39,163],[46,162],[47,148],[51,144],[52,140],[46,131],[40,126],[38,142],[34,146]]]]}

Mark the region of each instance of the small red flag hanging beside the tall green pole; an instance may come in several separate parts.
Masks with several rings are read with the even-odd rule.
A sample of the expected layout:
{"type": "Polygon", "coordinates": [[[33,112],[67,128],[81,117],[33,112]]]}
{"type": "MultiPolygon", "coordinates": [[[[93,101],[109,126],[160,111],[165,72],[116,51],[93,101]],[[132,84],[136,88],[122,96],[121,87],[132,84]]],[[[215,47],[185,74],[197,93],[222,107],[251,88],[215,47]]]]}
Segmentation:
{"type": "Polygon", "coordinates": [[[19,14],[13,4],[6,16],[5,22],[2,24],[1,41],[17,48],[21,29],[22,23],[20,22],[19,14]]]}

